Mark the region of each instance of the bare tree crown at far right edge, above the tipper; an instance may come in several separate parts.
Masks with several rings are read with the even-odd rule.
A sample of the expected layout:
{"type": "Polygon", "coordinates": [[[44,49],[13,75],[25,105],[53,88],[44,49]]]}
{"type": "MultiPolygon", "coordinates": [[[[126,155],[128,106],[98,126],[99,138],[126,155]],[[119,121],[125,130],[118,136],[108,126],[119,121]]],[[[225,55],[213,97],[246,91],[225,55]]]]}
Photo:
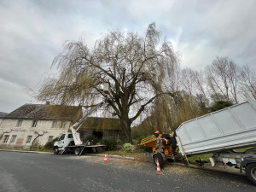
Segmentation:
{"type": "Polygon", "coordinates": [[[256,73],[248,65],[241,68],[241,89],[256,99],[256,73]]]}

